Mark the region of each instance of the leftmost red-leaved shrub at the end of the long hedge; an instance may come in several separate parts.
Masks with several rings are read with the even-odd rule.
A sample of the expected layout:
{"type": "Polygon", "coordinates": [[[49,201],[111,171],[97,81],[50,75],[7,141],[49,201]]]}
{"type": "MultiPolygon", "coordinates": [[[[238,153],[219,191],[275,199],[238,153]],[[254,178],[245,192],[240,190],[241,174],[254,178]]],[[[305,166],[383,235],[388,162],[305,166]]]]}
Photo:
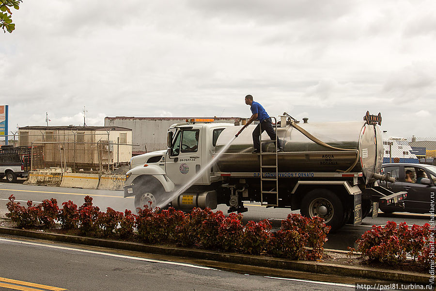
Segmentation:
{"type": "Polygon", "coordinates": [[[15,196],[9,196],[9,202],[6,203],[6,207],[9,213],[6,213],[6,217],[9,217],[13,222],[17,224],[17,227],[31,227],[38,224],[38,217],[41,214],[41,206],[33,205],[32,201],[27,201],[27,208],[21,206],[19,202],[15,202],[15,196]]]}

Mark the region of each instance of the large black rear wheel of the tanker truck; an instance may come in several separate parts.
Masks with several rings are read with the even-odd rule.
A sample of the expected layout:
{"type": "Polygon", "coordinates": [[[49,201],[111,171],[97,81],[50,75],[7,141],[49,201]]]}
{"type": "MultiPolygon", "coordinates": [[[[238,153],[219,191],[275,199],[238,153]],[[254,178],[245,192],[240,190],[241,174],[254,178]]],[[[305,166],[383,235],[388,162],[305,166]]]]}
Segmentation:
{"type": "Polygon", "coordinates": [[[344,211],[341,199],[327,189],[315,189],[307,193],[301,201],[301,214],[313,218],[324,218],[324,223],[335,231],[343,226],[344,211]]]}

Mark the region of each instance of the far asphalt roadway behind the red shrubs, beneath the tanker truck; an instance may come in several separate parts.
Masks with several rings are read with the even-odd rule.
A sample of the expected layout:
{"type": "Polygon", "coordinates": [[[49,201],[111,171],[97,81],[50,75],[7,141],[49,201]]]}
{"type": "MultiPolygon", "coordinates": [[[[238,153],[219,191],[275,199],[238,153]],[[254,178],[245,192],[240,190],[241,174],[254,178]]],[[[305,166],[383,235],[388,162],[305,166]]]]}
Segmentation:
{"type": "MultiPolygon", "coordinates": [[[[117,211],[124,211],[129,209],[135,211],[133,197],[123,197],[122,191],[104,191],[104,190],[86,190],[75,188],[61,188],[61,187],[47,187],[47,186],[30,186],[20,183],[3,183],[0,182],[0,215],[7,212],[6,203],[8,197],[14,194],[17,201],[22,204],[27,200],[40,202],[44,199],[56,198],[58,204],[72,200],[77,205],[83,204],[83,197],[90,195],[93,197],[94,205],[98,206],[101,211],[106,211],[107,207],[111,207],[117,211]]],[[[267,209],[258,203],[246,204],[249,208],[248,212],[244,213],[244,223],[249,220],[259,221],[262,219],[269,219],[273,225],[273,229],[280,228],[280,222],[285,219],[290,213],[287,209],[267,209]]],[[[218,206],[218,210],[227,213],[227,207],[218,206]]],[[[294,211],[298,212],[298,211],[294,211]]],[[[367,217],[363,219],[360,226],[344,226],[335,233],[328,235],[328,242],[325,248],[347,250],[347,248],[355,247],[355,241],[361,236],[362,233],[369,230],[373,225],[385,225],[387,221],[395,221],[397,224],[406,222],[409,225],[418,224],[423,225],[429,222],[430,215],[426,214],[413,214],[395,212],[392,214],[385,214],[380,212],[377,218],[372,219],[367,217]]]]}

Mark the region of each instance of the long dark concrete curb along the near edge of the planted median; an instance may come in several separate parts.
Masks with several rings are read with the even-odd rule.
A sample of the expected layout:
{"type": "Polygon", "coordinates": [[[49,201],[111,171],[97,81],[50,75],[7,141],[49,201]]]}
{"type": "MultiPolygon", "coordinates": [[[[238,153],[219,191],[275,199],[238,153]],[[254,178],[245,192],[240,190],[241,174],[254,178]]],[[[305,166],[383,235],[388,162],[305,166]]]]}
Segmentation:
{"type": "MultiPolygon", "coordinates": [[[[259,266],[281,270],[292,270],[309,272],[318,275],[336,275],[357,277],[361,279],[373,279],[378,281],[395,281],[413,284],[428,284],[430,275],[417,274],[405,271],[377,270],[363,266],[342,266],[314,261],[296,261],[290,259],[279,259],[264,256],[241,255],[234,253],[221,253],[216,251],[187,249],[180,247],[165,247],[149,245],[139,242],[112,241],[81,236],[63,235],[56,233],[45,233],[33,230],[24,230],[10,227],[0,227],[0,234],[29,237],[42,240],[70,242],[100,246],[121,250],[138,251],[150,254],[167,255],[174,257],[208,259],[219,262],[233,263],[246,266],[259,266]]],[[[267,274],[269,275],[269,274],[267,274]]]]}

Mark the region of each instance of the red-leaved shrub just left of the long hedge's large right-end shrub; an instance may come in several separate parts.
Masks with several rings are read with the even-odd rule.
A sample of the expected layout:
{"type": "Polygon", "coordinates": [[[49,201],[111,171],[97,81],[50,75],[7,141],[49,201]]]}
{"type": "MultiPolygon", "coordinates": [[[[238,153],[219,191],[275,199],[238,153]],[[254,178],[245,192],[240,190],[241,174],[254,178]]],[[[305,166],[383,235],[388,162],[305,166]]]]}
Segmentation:
{"type": "Polygon", "coordinates": [[[270,238],[271,224],[269,221],[249,221],[241,236],[241,251],[245,254],[258,255],[265,251],[270,238]]]}

